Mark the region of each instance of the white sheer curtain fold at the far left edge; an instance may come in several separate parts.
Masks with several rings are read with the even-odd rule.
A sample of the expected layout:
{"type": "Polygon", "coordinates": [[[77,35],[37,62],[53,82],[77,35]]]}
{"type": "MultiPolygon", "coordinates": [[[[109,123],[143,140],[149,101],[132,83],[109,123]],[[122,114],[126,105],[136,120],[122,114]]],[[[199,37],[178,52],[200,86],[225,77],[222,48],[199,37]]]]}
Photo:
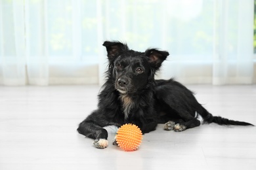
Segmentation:
{"type": "Polygon", "coordinates": [[[16,86],[26,84],[26,50],[24,35],[24,1],[1,1],[1,84],[16,86]],[[11,20],[11,22],[10,22],[11,20]]]}

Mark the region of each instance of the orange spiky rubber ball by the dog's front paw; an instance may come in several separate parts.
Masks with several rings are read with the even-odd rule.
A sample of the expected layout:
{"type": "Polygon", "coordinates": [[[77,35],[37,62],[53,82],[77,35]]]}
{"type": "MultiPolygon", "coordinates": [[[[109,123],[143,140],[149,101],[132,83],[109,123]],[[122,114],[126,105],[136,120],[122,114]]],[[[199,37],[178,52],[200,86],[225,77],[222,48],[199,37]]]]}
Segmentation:
{"type": "Polygon", "coordinates": [[[125,151],[137,150],[142,141],[142,132],[134,124],[125,124],[117,130],[116,143],[125,151]]]}

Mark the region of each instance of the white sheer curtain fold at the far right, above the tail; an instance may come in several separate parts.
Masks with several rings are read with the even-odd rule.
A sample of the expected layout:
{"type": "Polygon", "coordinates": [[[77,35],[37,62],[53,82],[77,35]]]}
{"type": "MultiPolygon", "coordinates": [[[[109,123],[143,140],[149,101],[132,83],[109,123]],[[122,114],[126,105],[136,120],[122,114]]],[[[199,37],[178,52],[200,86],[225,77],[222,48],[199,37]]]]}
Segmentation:
{"type": "Polygon", "coordinates": [[[215,1],[213,84],[253,83],[253,1],[215,1]]]}

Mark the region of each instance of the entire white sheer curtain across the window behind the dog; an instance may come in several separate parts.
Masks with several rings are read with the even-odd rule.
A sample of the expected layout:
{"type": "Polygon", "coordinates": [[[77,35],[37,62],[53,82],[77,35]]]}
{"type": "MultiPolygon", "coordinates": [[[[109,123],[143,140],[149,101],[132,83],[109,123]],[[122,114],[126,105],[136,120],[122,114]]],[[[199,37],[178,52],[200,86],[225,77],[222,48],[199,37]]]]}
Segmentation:
{"type": "Polygon", "coordinates": [[[168,50],[160,78],[252,84],[253,0],[0,0],[0,84],[102,84],[105,40],[168,50]]]}

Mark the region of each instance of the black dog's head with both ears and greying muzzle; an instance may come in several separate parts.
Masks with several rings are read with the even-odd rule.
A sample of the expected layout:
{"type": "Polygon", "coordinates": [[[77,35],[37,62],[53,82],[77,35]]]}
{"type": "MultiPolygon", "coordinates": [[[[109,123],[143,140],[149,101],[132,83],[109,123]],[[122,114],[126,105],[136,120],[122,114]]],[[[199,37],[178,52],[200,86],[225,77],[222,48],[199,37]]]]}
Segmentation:
{"type": "Polygon", "coordinates": [[[166,51],[149,48],[145,52],[129,50],[127,44],[105,41],[109,74],[120,93],[135,93],[154,82],[154,75],[169,56],[166,51]]]}

